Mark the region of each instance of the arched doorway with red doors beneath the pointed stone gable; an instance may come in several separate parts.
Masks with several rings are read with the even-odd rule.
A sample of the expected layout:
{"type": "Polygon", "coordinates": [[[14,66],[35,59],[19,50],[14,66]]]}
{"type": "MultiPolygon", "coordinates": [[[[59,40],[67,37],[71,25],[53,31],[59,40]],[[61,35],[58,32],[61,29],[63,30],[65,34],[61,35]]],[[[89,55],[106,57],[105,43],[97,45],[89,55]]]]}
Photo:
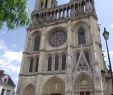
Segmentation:
{"type": "Polygon", "coordinates": [[[88,74],[77,76],[74,84],[75,95],[94,95],[94,82],[88,74]]]}

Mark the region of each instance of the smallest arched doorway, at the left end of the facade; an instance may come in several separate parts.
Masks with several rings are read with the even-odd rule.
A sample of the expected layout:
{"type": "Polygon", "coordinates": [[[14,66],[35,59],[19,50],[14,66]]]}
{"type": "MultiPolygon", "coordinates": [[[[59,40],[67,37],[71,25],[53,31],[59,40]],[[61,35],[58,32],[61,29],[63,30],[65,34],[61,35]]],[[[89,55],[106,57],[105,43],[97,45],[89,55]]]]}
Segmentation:
{"type": "Polygon", "coordinates": [[[25,87],[23,95],[35,95],[35,87],[30,84],[27,87],[25,87]]]}

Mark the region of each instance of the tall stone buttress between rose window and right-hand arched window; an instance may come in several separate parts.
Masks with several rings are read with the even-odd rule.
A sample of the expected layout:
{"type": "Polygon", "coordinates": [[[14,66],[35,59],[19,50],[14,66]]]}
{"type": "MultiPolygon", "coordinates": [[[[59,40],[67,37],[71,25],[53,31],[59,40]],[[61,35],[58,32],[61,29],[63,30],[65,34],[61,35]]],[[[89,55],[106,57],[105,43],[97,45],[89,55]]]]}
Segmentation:
{"type": "Polygon", "coordinates": [[[72,53],[71,53],[71,21],[67,23],[67,68],[66,68],[66,84],[65,95],[73,95],[73,76],[72,76],[72,53]]]}

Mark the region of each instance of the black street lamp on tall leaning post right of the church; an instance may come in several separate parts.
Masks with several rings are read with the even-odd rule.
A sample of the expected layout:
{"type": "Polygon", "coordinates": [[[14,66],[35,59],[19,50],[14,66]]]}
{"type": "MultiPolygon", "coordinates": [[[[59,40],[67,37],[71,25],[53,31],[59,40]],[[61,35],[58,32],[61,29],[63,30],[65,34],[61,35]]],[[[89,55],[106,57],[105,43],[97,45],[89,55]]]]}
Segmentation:
{"type": "Polygon", "coordinates": [[[106,31],[106,28],[104,28],[103,36],[104,36],[104,39],[105,39],[105,42],[106,42],[107,55],[108,55],[108,61],[109,61],[109,71],[110,71],[110,75],[111,75],[111,79],[112,79],[112,93],[111,93],[111,95],[113,95],[113,73],[112,73],[111,60],[110,60],[110,55],[109,55],[109,48],[108,48],[108,43],[107,43],[107,40],[109,39],[109,32],[106,31]]]}

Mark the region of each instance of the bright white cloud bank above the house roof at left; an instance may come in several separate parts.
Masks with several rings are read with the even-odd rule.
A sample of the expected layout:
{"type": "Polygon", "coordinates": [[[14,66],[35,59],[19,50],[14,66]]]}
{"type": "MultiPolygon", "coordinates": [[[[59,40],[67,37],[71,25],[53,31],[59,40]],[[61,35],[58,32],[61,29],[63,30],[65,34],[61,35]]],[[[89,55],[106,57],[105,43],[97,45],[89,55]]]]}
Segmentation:
{"type": "Polygon", "coordinates": [[[5,43],[0,40],[0,69],[5,70],[5,72],[10,75],[17,75],[19,73],[21,59],[21,51],[9,49],[5,43]]]}

